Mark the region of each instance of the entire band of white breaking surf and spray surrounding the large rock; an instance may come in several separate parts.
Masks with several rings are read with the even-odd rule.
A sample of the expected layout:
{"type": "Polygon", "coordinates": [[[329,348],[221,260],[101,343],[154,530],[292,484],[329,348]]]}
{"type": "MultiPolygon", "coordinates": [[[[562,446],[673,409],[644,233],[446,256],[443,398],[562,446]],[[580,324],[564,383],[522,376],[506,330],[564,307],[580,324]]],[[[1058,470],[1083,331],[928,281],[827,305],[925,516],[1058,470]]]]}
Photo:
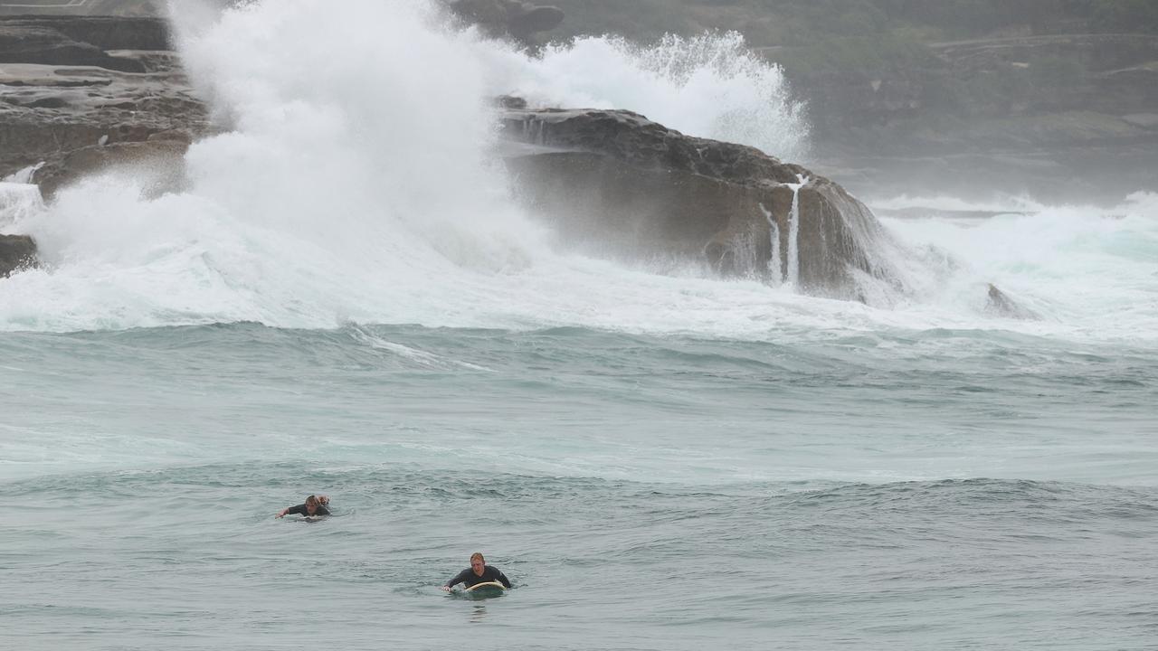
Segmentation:
{"type": "Polygon", "coordinates": [[[455,31],[430,2],[197,7],[175,3],[182,54],[232,129],[190,148],[181,192],[152,197],[145,180],[117,173],[63,190],[50,206],[27,185],[0,188],[0,224],[34,235],[45,262],[2,283],[0,330],[249,321],[757,339],[894,328],[1158,332],[1146,293],[1150,195],[1123,204],[1122,219],[1084,207],[975,228],[887,218],[924,251],[910,273],[928,277],[893,309],[552,250],[491,158],[491,97],[623,107],[696,136],[802,147],[806,122],[784,98],[779,68],[735,35],[672,37],[651,50],[586,38],[535,58],[455,31]],[[1010,243],[1014,235],[1024,246],[1010,243]],[[1045,319],[991,319],[985,283],[1045,319]]]}

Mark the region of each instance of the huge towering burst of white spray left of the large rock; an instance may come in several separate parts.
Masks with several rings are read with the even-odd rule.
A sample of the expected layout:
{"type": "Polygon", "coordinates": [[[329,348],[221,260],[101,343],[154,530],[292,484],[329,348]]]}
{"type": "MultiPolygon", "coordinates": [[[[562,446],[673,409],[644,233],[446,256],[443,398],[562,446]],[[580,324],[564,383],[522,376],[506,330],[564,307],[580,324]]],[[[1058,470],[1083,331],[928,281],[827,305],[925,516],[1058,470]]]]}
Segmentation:
{"type": "Polygon", "coordinates": [[[182,192],[148,198],[112,171],[23,219],[53,273],[0,300],[24,314],[36,297],[51,329],[455,322],[493,305],[485,278],[544,247],[488,156],[483,45],[437,17],[425,3],[290,0],[178,23],[229,130],[190,147],[182,192]]]}

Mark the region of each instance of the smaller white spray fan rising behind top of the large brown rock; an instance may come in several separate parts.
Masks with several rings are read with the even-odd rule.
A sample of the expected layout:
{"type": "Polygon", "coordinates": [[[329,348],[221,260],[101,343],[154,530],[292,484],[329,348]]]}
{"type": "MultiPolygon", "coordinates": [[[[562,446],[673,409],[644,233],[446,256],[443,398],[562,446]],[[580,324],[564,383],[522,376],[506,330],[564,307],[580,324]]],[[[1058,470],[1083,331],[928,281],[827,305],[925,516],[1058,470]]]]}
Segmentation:
{"type": "Polygon", "coordinates": [[[496,61],[497,93],[533,104],[628,109],[689,136],[755,146],[798,161],[808,154],[806,108],[784,71],[748,50],[738,32],[668,35],[639,45],[586,36],[537,57],[496,61]]]}

